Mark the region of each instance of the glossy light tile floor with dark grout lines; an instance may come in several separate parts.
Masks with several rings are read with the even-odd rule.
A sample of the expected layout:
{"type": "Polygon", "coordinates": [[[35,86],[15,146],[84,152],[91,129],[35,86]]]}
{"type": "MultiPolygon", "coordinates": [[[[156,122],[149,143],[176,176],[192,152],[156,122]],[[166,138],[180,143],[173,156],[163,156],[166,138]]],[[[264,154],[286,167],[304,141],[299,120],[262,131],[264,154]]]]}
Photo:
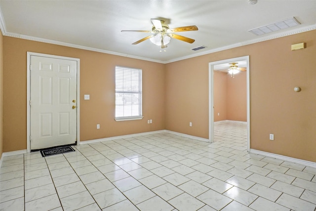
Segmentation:
{"type": "Polygon", "coordinates": [[[215,142],[157,133],[3,157],[1,211],[315,211],[316,169],[246,152],[246,124],[215,142]]]}

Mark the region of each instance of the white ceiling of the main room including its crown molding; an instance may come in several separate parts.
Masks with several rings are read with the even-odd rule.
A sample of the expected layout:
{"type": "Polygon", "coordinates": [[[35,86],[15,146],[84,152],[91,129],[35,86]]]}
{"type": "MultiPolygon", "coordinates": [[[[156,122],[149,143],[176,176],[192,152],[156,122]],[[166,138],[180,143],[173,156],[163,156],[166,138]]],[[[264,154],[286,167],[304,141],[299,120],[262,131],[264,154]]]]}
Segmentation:
{"type": "MultiPolygon", "coordinates": [[[[316,0],[0,0],[0,27],[5,36],[50,42],[168,63],[240,45],[316,29],[316,0]],[[248,30],[295,17],[301,25],[256,36],[248,30]],[[166,52],[149,40],[151,18],[170,28],[196,25],[198,31],[172,39],[166,52]],[[193,51],[197,46],[207,48],[193,51]]],[[[304,42],[304,41],[302,41],[304,42]]]]}

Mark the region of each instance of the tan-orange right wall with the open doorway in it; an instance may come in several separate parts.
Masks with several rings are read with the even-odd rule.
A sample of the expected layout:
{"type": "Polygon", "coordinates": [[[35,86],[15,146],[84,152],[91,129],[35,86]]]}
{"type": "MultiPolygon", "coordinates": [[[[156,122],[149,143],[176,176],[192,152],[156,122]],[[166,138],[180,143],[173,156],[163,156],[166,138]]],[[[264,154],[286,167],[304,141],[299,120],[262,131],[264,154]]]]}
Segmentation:
{"type": "Polygon", "coordinates": [[[208,138],[208,63],[246,55],[250,148],[316,162],[316,30],[166,64],[166,129],[208,138]]]}

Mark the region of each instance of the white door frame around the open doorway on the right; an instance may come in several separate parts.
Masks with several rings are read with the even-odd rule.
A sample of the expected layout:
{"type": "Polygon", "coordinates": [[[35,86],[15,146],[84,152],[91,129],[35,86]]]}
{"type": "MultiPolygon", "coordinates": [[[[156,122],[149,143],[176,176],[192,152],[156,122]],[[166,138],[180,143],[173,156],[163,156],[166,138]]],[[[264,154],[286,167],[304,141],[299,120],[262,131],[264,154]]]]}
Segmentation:
{"type": "Polygon", "coordinates": [[[209,87],[209,130],[208,139],[209,142],[214,142],[214,65],[232,63],[236,61],[246,61],[247,62],[247,151],[250,151],[250,86],[249,86],[249,56],[241,56],[237,58],[225,59],[221,61],[215,61],[208,63],[208,87],[209,87]]]}

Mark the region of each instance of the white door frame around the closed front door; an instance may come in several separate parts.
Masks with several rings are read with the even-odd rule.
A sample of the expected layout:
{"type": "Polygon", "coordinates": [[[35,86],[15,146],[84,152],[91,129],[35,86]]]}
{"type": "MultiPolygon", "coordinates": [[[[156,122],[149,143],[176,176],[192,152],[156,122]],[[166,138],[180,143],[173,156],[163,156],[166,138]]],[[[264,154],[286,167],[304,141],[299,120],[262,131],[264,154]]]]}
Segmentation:
{"type": "Polygon", "coordinates": [[[27,52],[27,88],[26,88],[26,150],[31,152],[31,56],[42,56],[56,59],[73,60],[77,62],[77,145],[80,144],[80,59],[65,56],[56,56],[43,53],[27,52]]]}

